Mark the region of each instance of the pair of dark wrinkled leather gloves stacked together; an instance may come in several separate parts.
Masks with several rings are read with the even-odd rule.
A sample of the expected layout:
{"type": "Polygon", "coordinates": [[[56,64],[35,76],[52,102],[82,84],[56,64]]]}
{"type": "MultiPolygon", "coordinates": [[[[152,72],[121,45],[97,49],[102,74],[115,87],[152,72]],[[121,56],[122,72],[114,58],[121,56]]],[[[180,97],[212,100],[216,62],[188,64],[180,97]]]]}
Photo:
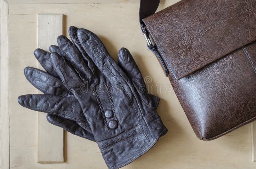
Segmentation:
{"type": "Polygon", "coordinates": [[[110,169],[147,152],[167,129],[156,112],[159,98],[148,94],[130,52],[121,48],[118,64],[100,39],[86,29],[69,28],[50,53],[34,54],[46,72],[26,67],[25,77],[44,94],[18,98],[21,106],[47,113],[47,120],[98,143],[110,169]]]}

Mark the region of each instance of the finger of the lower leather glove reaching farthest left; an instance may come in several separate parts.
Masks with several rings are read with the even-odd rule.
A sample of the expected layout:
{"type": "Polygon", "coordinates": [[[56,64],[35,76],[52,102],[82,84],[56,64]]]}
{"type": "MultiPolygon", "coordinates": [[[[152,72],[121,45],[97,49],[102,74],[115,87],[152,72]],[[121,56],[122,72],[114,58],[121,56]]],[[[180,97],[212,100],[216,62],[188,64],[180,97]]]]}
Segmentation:
{"type": "Polygon", "coordinates": [[[80,123],[87,123],[80,104],[74,97],[27,94],[18,97],[21,106],[80,123]]]}

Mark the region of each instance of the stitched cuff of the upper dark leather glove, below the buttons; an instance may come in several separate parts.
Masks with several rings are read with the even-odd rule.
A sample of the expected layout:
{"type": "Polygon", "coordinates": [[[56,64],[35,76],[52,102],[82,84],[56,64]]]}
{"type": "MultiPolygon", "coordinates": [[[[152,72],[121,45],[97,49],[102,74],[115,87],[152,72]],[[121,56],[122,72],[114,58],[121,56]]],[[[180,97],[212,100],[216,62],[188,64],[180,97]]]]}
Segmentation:
{"type": "MultiPolygon", "coordinates": [[[[161,121],[161,119],[160,119],[161,121]]],[[[109,169],[123,167],[145,154],[168,130],[163,125],[158,137],[152,139],[137,126],[108,140],[98,142],[101,154],[109,169]],[[114,151],[113,151],[114,150],[114,151]]]]}

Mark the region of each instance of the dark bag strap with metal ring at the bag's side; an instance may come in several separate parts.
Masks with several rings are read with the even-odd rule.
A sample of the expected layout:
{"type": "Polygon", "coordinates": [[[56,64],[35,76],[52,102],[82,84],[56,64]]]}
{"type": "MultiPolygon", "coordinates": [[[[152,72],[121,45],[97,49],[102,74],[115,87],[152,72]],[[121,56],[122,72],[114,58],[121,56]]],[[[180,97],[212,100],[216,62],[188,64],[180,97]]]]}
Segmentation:
{"type": "Polygon", "coordinates": [[[148,36],[148,32],[146,30],[146,27],[145,27],[145,25],[142,21],[142,19],[154,14],[156,12],[159,4],[160,4],[160,0],[140,0],[139,19],[140,19],[141,31],[142,31],[143,35],[145,36],[145,39],[148,43],[148,45],[147,45],[148,49],[156,54],[158,60],[160,61],[161,65],[164,69],[165,76],[167,77],[168,74],[169,74],[169,71],[168,71],[161,55],[158,53],[155,46],[152,44],[152,42],[151,42],[151,40],[148,36]]]}

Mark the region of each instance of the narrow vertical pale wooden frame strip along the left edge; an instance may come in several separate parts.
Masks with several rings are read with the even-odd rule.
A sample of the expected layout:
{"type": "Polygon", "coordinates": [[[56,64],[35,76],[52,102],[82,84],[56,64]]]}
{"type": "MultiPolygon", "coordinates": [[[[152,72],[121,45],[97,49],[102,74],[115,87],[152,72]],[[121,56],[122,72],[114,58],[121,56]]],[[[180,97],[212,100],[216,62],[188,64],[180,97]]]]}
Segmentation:
{"type": "Polygon", "coordinates": [[[9,168],[9,4],[0,1],[0,168],[9,168]]]}

